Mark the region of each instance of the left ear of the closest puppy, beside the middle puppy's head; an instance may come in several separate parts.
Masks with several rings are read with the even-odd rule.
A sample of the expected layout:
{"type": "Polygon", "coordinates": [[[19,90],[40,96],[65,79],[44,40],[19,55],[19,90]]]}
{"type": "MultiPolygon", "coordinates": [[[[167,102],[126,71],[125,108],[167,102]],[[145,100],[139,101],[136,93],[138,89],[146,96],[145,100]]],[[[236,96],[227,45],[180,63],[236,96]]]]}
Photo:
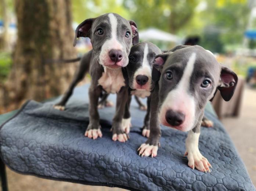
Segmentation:
{"type": "Polygon", "coordinates": [[[165,64],[165,61],[167,59],[167,57],[171,54],[172,52],[165,52],[162,53],[160,55],[157,55],[155,57],[155,59],[153,60],[153,69],[152,69],[152,80],[154,82],[158,81],[160,76],[161,76],[161,72],[163,69],[163,65],[165,64]]]}

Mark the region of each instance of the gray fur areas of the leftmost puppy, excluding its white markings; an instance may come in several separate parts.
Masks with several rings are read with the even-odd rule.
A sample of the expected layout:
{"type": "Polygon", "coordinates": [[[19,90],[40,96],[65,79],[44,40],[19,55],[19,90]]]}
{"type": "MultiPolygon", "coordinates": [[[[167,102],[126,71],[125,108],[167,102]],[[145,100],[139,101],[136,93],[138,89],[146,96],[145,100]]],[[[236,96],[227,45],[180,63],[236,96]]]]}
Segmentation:
{"type": "MultiPolygon", "coordinates": [[[[124,53],[123,55],[129,55],[130,48],[133,43],[138,42],[138,34],[136,29],[136,23],[133,21],[128,21],[122,18],[118,14],[113,14],[117,19],[117,34],[116,39],[118,42],[123,46],[124,53]],[[131,36],[125,37],[126,31],[129,31],[131,36]]],[[[55,106],[65,106],[66,102],[68,101],[69,97],[72,95],[72,91],[76,84],[80,82],[86,72],[89,71],[91,75],[91,85],[89,89],[89,97],[90,97],[90,123],[87,127],[87,130],[90,129],[98,129],[100,128],[100,116],[98,114],[98,100],[99,97],[104,90],[101,85],[98,84],[98,80],[101,78],[104,72],[104,63],[99,59],[102,45],[104,42],[111,38],[111,22],[109,20],[108,14],[101,15],[97,18],[86,19],[82,22],[76,29],[76,35],[74,40],[74,45],[76,44],[76,40],[78,37],[89,37],[91,39],[91,43],[93,46],[93,50],[90,50],[87,54],[85,54],[80,61],[80,66],[74,76],[74,79],[69,86],[68,90],[64,94],[62,100],[56,104],[55,106]],[[96,31],[101,28],[104,30],[102,35],[98,35],[96,31]]],[[[128,57],[124,57],[128,61],[128,57]]],[[[114,63],[115,64],[115,63],[114,63]]],[[[125,80],[125,78],[124,78],[125,80]]],[[[112,130],[113,134],[121,134],[124,133],[122,131],[121,122],[122,117],[124,115],[125,110],[125,103],[128,98],[128,86],[123,86],[120,91],[117,93],[117,103],[116,103],[116,114],[113,117],[113,124],[112,130]],[[121,99],[122,98],[122,99],[121,99]],[[120,101],[122,100],[122,101],[120,101]],[[124,103],[123,103],[124,102],[124,103]]]]}

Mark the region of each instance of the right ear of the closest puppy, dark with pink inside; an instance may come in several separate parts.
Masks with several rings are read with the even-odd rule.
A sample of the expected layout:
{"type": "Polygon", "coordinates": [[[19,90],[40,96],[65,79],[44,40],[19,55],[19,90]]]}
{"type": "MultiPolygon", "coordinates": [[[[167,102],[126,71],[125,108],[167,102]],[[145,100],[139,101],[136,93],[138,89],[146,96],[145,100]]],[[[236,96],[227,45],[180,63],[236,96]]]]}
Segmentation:
{"type": "Polygon", "coordinates": [[[221,67],[220,81],[217,89],[220,90],[220,95],[225,101],[229,101],[234,94],[237,86],[237,75],[227,67],[221,67]]]}

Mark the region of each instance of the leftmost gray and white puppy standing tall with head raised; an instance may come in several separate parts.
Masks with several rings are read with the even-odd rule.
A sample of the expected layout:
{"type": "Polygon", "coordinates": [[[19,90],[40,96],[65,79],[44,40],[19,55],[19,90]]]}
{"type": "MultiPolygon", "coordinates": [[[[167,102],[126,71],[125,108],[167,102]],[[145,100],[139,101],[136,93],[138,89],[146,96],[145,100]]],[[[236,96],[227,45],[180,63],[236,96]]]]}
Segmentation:
{"type": "Polygon", "coordinates": [[[98,99],[104,90],[107,93],[117,93],[112,139],[125,142],[128,137],[122,129],[122,119],[128,98],[128,86],[123,70],[129,63],[128,55],[131,46],[139,42],[137,25],[134,21],[126,20],[118,14],[104,14],[97,18],[86,19],[76,28],[74,46],[78,37],[89,37],[93,49],[83,56],[71,85],[54,108],[65,109],[65,104],[72,95],[74,87],[89,71],[91,75],[90,122],[85,136],[93,139],[102,136],[97,106],[98,99]]]}

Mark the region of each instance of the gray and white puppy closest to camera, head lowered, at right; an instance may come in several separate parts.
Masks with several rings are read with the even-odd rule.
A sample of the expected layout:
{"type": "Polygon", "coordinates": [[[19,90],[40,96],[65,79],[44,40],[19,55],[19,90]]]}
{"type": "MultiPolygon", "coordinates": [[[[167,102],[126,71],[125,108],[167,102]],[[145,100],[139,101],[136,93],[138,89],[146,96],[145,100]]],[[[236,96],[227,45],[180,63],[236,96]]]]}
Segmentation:
{"type": "Polygon", "coordinates": [[[157,155],[161,123],[188,131],[185,142],[188,166],[210,171],[210,163],[198,149],[204,108],[217,89],[223,99],[229,101],[237,85],[237,75],[221,66],[213,54],[201,46],[176,46],[156,56],[152,79],[155,87],[151,94],[150,135],[138,149],[139,154],[157,155]]]}

